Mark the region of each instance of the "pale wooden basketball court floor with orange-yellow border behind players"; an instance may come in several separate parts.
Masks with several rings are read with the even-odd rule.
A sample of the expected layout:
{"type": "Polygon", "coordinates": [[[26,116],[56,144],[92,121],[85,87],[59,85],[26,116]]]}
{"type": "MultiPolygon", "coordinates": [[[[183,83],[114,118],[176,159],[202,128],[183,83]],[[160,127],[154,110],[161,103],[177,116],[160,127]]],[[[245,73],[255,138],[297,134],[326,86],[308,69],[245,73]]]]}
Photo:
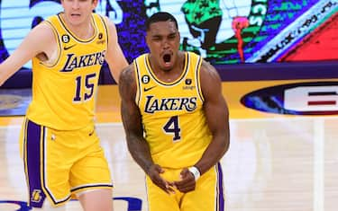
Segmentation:
{"type": "MultiPolygon", "coordinates": [[[[231,127],[230,149],[221,161],[227,211],[337,210],[338,117],[271,114],[239,102],[255,88],[289,82],[223,84],[231,127]]],[[[144,174],[125,145],[119,101],[115,85],[100,86],[97,132],[111,165],[115,210],[143,211],[144,174]]],[[[22,120],[0,118],[0,211],[28,210],[18,206],[27,200],[18,145],[22,120]]],[[[81,210],[78,201],[67,210],[81,210]]]]}

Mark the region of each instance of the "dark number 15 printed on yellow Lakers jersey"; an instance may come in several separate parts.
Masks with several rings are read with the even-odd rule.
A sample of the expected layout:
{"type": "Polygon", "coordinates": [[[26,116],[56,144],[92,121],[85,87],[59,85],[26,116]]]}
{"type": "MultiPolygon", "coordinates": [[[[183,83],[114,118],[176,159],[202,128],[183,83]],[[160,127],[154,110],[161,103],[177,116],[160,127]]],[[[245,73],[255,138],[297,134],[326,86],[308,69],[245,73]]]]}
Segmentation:
{"type": "Polygon", "coordinates": [[[92,78],[96,77],[96,73],[94,74],[89,74],[86,76],[78,76],[75,81],[76,81],[76,92],[75,92],[75,97],[73,99],[73,101],[75,102],[80,102],[80,101],[87,101],[88,99],[90,99],[93,96],[94,93],[94,87],[95,84],[92,82],[92,78]],[[84,82],[82,82],[82,80],[85,80],[84,82]],[[82,84],[84,84],[84,90],[82,93],[82,84]]]}

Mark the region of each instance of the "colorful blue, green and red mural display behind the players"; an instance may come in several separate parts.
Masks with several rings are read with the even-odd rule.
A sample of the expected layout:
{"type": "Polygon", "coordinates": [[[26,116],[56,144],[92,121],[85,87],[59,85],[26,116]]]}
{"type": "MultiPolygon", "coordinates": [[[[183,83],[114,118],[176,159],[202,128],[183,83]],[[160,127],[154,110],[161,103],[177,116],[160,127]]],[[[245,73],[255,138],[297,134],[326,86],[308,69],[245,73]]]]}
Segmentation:
{"type": "MultiPolygon", "coordinates": [[[[0,6],[0,60],[34,25],[62,11],[59,0],[0,6]]],[[[178,19],[182,49],[215,65],[338,59],[337,0],[99,0],[96,7],[115,22],[129,61],[148,51],[144,22],[158,11],[178,19]]]]}

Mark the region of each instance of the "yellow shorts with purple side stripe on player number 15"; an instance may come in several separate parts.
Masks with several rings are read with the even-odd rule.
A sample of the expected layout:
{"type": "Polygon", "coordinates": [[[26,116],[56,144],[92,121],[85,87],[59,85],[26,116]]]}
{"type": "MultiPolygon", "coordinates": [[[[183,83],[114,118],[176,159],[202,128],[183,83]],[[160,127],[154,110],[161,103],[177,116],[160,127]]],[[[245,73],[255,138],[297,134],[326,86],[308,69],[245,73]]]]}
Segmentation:
{"type": "Polygon", "coordinates": [[[59,131],[25,119],[20,142],[31,207],[42,207],[45,198],[59,206],[78,192],[113,187],[94,125],[59,131]]]}

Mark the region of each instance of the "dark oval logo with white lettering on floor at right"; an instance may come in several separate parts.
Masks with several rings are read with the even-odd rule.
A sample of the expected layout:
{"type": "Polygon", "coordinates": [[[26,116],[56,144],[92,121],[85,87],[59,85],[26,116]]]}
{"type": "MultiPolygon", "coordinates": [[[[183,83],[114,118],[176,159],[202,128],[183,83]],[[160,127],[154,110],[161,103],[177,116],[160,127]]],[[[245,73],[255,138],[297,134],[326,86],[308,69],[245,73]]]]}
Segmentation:
{"type": "Polygon", "coordinates": [[[244,95],[253,110],[291,115],[338,114],[338,82],[308,82],[270,86],[244,95]]]}

